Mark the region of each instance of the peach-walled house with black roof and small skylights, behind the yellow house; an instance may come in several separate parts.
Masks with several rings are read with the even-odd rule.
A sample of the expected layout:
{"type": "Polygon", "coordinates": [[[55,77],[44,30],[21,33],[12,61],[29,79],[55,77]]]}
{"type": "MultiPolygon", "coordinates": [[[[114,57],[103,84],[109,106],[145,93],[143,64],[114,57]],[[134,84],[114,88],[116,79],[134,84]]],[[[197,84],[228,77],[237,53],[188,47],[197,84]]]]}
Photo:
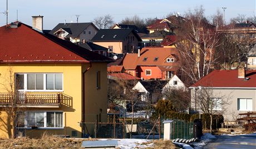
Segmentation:
{"type": "Polygon", "coordinates": [[[137,53],[141,39],[134,29],[100,29],[92,42],[108,48],[110,53],[137,53]]]}

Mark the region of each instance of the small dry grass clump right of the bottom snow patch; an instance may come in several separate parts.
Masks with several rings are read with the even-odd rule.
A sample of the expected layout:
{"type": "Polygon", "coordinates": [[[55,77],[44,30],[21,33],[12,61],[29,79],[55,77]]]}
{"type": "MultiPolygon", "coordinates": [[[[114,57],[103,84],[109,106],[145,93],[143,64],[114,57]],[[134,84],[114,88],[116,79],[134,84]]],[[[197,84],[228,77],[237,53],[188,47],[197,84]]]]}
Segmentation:
{"type": "Polygon", "coordinates": [[[147,147],[147,149],[179,149],[179,147],[176,147],[171,140],[154,140],[151,142],[146,142],[145,144],[154,143],[154,146],[147,147]]]}

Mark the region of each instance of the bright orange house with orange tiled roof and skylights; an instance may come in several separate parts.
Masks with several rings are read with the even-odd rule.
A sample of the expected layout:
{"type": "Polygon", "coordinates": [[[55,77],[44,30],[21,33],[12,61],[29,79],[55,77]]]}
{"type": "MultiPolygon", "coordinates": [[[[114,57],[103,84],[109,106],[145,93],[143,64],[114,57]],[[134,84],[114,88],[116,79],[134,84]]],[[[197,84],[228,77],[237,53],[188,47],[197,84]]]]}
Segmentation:
{"type": "Polygon", "coordinates": [[[169,80],[179,69],[179,52],[175,48],[146,47],[138,54],[127,53],[121,65],[126,73],[144,80],[169,80]]]}

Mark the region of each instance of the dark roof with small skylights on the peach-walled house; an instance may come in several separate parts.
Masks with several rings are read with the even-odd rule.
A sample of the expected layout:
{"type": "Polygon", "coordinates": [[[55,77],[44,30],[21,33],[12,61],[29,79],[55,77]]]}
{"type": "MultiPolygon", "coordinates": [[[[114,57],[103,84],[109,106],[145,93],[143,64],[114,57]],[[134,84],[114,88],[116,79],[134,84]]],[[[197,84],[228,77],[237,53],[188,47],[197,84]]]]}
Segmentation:
{"type": "Polygon", "coordinates": [[[133,33],[137,40],[141,42],[139,35],[132,28],[129,29],[100,29],[97,34],[91,39],[92,42],[112,42],[124,41],[126,37],[133,33]]]}

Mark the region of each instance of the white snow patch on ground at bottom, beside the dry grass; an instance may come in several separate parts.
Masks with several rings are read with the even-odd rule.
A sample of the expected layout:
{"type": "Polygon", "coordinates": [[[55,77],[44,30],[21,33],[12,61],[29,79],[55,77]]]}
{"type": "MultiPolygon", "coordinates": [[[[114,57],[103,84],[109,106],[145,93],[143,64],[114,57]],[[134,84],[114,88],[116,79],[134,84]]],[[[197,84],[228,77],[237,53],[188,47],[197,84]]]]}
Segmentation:
{"type": "MultiPolygon", "coordinates": [[[[109,140],[109,139],[102,138],[100,140],[109,140]]],[[[117,140],[118,147],[120,147],[121,149],[146,148],[154,145],[153,143],[146,144],[146,142],[152,141],[152,140],[146,140],[146,139],[124,138],[124,139],[111,139],[111,140],[117,140]]]]}

